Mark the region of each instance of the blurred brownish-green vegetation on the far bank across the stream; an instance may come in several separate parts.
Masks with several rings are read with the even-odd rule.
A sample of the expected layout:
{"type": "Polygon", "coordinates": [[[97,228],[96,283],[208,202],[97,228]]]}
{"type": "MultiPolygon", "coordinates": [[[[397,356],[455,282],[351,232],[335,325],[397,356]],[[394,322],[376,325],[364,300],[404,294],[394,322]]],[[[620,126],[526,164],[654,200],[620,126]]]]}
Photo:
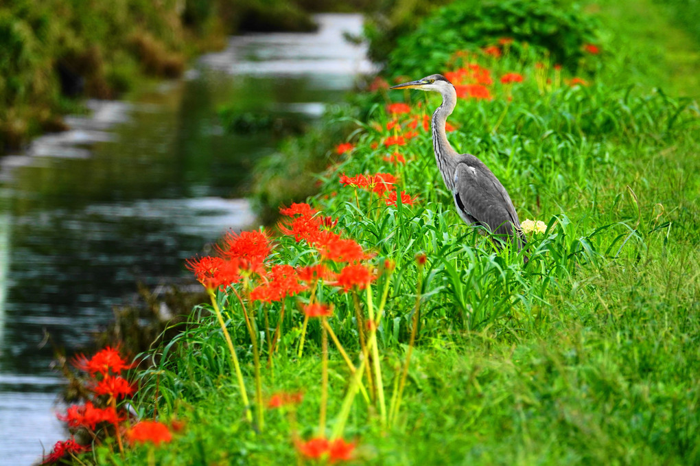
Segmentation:
{"type": "MultiPolygon", "coordinates": [[[[367,8],[367,1],[327,7],[367,8]]],[[[12,0],[0,5],[0,154],[66,129],[81,99],[115,99],[144,78],[181,76],[229,34],[309,31],[311,0],[12,0]]]]}

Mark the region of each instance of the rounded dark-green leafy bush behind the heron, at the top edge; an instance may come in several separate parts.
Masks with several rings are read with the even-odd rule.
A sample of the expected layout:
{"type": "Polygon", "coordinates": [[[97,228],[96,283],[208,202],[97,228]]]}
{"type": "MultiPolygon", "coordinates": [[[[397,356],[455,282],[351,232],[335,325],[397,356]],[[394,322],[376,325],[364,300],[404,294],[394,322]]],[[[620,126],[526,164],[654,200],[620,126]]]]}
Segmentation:
{"type": "Polygon", "coordinates": [[[365,35],[372,59],[394,75],[425,74],[458,50],[492,45],[498,38],[512,38],[514,51],[526,41],[551,53],[554,62],[575,67],[582,45],[597,38],[594,17],[570,0],[457,0],[432,2],[430,7],[391,3],[392,8],[367,21],[365,35]]]}

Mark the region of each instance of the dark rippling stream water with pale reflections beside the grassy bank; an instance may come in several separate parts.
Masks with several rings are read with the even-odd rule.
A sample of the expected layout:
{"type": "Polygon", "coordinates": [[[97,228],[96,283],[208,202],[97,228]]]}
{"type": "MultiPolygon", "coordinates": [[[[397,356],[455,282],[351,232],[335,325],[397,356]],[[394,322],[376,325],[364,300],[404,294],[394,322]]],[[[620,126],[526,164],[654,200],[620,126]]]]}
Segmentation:
{"type": "Polygon", "coordinates": [[[370,71],[342,38],[358,34],[360,15],[316,19],[314,34],[230,38],[186,78],[90,101],[70,131],[0,159],[0,463],[35,463],[68,435],[55,418],[54,347],[89,344],[137,283],[182,277],[204,243],[256,225],[241,197],[274,139],[225,132],[217,109],[313,118],[370,71]]]}

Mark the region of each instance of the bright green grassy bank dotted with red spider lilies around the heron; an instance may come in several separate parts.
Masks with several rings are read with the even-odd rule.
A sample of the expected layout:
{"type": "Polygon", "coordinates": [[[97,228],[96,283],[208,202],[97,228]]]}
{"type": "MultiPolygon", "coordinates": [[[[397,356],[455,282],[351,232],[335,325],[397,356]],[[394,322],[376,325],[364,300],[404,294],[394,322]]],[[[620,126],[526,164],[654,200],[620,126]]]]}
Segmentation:
{"type": "Polygon", "coordinates": [[[406,77],[387,69],[336,111],[332,154],[321,129],[289,143],[321,151],[317,195],[188,262],[209,302],[178,337],[138,370],[75,361],[105,411],[65,414],[92,439],[73,464],[700,461],[696,101],[650,85],[664,62],[619,47],[612,2],[550,10],[578,43],[561,56],[500,13],[498,37],[449,50],[458,3],[419,26],[443,55],[409,37],[392,54],[456,85],[448,137],[532,220],[528,249],[463,225],[432,152],[439,98],[388,91],[406,77]],[[134,390],[101,385],[116,372],[134,390]]]}

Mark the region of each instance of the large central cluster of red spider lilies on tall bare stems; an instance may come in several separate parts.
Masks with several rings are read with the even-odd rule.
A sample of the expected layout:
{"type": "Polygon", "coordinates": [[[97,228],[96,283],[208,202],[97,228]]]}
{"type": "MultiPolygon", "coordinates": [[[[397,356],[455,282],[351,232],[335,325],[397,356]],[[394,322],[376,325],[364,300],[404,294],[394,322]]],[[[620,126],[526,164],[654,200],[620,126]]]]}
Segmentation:
{"type": "MultiPolygon", "coordinates": [[[[395,177],[388,174],[353,178],[343,175],[341,178],[343,184],[367,188],[378,195],[386,195],[395,181],[395,177]]],[[[390,204],[391,195],[385,199],[390,204]]],[[[405,204],[410,203],[412,199],[405,198],[405,204]]],[[[397,388],[393,393],[391,410],[388,410],[376,336],[386,305],[388,278],[393,264],[388,260],[374,260],[373,253],[346,237],[337,227],[337,220],[321,215],[309,204],[292,204],[280,212],[284,216],[278,225],[282,236],[276,241],[265,232],[229,233],[216,248],[216,256],[190,260],[188,267],[209,293],[211,308],[228,345],[239,395],[246,407],[246,419],[258,430],[264,429],[266,406],[294,406],[301,400],[300,395],[278,394],[265,402],[262,356],[267,356],[267,368],[274,367],[283,334],[300,327],[300,337],[293,352],[302,357],[307,346],[309,323],[318,320],[321,329],[321,407],[317,434],[306,442],[297,432],[290,432],[290,435],[297,451],[304,457],[350,458],[354,444],[345,442],[342,435],[356,395],[361,393],[373,409],[379,411],[382,425],[387,425],[400,407],[400,390],[405,381],[398,386],[400,390],[397,388]],[[304,250],[302,263],[295,266],[274,264],[272,258],[279,243],[285,243],[286,248],[304,250]],[[372,284],[379,276],[384,276],[383,286],[375,296],[372,284]],[[352,297],[354,309],[350,318],[356,323],[359,347],[356,358],[351,358],[328,323],[336,316],[334,306],[326,302],[325,297],[337,293],[352,297]],[[235,338],[231,337],[230,326],[226,323],[228,318],[241,318],[248,330],[255,374],[253,402],[248,398],[241,362],[233,343],[235,338]],[[258,335],[264,335],[263,341],[259,341],[258,335]],[[330,438],[327,430],[329,340],[351,374],[350,386],[341,411],[335,416],[330,438]]],[[[348,310],[343,309],[342,318],[346,317],[348,310]]]]}

